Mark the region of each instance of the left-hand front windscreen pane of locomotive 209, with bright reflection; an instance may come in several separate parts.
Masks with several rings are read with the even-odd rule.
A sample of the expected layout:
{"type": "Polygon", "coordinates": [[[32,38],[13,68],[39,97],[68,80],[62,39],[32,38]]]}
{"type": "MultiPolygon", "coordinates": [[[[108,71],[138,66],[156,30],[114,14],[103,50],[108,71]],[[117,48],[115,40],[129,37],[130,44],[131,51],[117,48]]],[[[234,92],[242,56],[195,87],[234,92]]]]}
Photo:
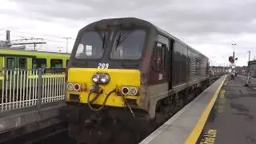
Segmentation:
{"type": "Polygon", "coordinates": [[[106,31],[86,31],[78,44],[75,58],[101,58],[106,36],[106,31]]]}

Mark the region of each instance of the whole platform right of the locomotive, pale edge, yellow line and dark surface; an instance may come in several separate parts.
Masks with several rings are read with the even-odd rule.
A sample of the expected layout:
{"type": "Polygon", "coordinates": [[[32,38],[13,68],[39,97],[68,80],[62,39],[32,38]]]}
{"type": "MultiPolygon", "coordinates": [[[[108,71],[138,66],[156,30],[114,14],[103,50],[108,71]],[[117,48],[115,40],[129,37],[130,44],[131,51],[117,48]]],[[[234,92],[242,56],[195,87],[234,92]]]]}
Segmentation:
{"type": "Polygon", "coordinates": [[[222,76],[140,143],[255,143],[256,90],[245,84],[222,76]]]}

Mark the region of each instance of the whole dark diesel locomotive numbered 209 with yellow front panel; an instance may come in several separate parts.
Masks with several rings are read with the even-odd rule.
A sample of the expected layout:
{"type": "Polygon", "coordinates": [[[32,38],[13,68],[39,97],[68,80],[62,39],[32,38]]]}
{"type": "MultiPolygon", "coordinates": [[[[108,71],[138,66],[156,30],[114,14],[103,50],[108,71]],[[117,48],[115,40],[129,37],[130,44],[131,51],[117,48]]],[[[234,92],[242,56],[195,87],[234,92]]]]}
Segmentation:
{"type": "Polygon", "coordinates": [[[208,69],[205,55],[150,22],[102,19],[78,32],[61,115],[74,138],[87,124],[161,124],[206,88],[208,69]]]}

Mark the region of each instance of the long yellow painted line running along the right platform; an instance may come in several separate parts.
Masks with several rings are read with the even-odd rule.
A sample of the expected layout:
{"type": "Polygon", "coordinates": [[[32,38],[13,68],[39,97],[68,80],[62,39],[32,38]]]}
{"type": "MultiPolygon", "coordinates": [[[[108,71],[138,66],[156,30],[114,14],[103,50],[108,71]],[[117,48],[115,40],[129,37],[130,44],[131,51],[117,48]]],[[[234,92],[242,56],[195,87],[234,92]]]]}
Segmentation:
{"type": "Polygon", "coordinates": [[[194,127],[194,130],[192,130],[192,132],[190,133],[190,136],[186,138],[186,142],[185,142],[186,144],[193,144],[197,142],[199,135],[202,133],[202,129],[206,124],[206,120],[210,114],[210,110],[213,108],[214,102],[218,98],[218,93],[221,90],[225,80],[226,80],[226,76],[222,80],[222,83],[220,84],[220,86],[218,86],[218,89],[214,93],[214,97],[211,98],[210,103],[208,104],[208,106],[206,106],[206,109],[203,110],[201,117],[198,120],[198,123],[194,127]]]}

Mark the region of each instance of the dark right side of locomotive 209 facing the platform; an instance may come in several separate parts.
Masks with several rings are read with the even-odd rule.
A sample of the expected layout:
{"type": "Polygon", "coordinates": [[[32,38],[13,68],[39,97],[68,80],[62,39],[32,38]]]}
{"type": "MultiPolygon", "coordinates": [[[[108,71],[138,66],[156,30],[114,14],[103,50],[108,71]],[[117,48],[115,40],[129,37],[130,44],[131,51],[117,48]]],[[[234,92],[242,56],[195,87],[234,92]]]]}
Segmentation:
{"type": "MultiPolygon", "coordinates": [[[[178,38],[156,28],[157,36],[154,39],[152,50],[151,66],[148,74],[149,80],[146,84],[145,102],[148,107],[145,109],[150,118],[156,114],[162,115],[162,110],[171,110],[174,99],[184,100],[190,96],[195,89],[208,86],[208,58],[194,50],[178,38]],[[154,57],[156,49],[160,46],[162,63],[160,69],[155,68],[154,57]]],[[[177,102],[175,103],[175,105],[177,102]]]]}

